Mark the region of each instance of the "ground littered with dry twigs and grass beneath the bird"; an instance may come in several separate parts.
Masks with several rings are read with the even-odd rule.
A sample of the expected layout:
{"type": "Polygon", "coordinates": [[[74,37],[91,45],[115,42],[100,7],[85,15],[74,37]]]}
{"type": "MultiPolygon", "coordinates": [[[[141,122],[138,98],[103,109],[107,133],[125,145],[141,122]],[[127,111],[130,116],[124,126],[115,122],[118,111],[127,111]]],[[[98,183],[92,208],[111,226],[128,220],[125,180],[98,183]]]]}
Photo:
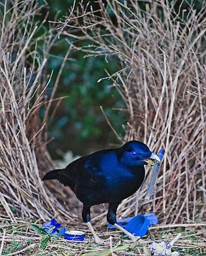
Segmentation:
{"type": "MultiPolygon", "coordinates": [[[[84,255],[84,256],[145,256],[146,248],[152,241],[160,243],[171,242],[177,233],[181,232],[180,239],[174,244],[174,250],[182,255],[204,255],[206,253],[206,234],[204,227],[198,224],[194,227],[187,225],[182,227],[153,227],[152,232],[144,236],[144,243],[134,244],[127,237],[121,236],[119,231],[105,231],[99,233],[103,239],[107,239],[108,245],[99,246],[91,241],[91,234],[85,226],[78,225],[77,229],[85,232],[85,239],[82,243],[72,243],[63,238],[52,238],[44,249],[41,248],[42,236],[34,233],[29,227],[30,221],[21,221],[17,224],[3,225],[3,232],[0,236],[0,255],[84,255]],[[199,254],[197,253],[199,252],[199,254]],[[195,253],[196,252],[196,253],[195,253]]],[[[75,228],[75,227],[73,227],[75,228]]]]}

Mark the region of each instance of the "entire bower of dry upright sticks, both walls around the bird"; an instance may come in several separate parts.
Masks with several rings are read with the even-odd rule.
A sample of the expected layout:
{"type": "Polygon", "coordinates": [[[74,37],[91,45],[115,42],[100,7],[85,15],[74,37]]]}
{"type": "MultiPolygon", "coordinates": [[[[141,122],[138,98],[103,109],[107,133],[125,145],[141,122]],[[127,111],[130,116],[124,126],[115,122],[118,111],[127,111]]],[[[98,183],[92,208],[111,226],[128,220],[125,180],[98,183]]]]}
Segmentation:
{"type": "MultiPolygon", "coordinates": [[[[116,26],[103,3],[96,15],[74,2],[68,17],[55,20],[41,35],[45,20],[35,23],[41,8],[37,1],[13,1],[11,9],[0,13],[1,223],[44,222],[52,217],[67,225],[82,222],[82,206],[70,189],[55,181],[47,186],[41,182],[55,168],[46,148],[47,128],[49,116],[55,116],[62,101],[55,91],[72,51],[83,51],[85,57],[115,56],[119,61],[119,71],[106,70],[102,78],[121,95],[125,106],[119,111],[129,114],[123,136],[107,120],[119,144],[135,139],[153,152],[164,149],[150,201],[144,200],[150,177],[146,167],[142,188],[121,203],[117,216],[155,212],[160,225],[206,222],[206,6],[197,13],[191,5],[183,19],[167,1],[155,2],[142,14],[136,1],[128,5],[108,1],[116,26]],[[45,91],[52,79],[46,72],[48,54],[59,35],[73,40],[68,41],[48,97],[45,91]],[[89,43],[79,49],[79,40],[89,43]],[[40,108],[45,108],[43,121],[40,108]]],[[[105,216],[103,206],[94,209],[92,221],[106,229],[105,216]]]]}

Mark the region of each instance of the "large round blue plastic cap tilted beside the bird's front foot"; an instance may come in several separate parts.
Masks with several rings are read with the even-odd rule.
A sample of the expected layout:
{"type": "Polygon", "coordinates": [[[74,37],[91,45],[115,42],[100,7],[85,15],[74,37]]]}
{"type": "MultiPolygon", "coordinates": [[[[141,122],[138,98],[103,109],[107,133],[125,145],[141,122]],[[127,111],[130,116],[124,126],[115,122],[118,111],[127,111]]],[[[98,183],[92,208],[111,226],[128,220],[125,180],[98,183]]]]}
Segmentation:
{"type": "Polygon", "coordinates": [[[144,236],[148,232],[149,220],[144,215],[138,215],[127,223],[125,229],[135,236],[144,236]]]}

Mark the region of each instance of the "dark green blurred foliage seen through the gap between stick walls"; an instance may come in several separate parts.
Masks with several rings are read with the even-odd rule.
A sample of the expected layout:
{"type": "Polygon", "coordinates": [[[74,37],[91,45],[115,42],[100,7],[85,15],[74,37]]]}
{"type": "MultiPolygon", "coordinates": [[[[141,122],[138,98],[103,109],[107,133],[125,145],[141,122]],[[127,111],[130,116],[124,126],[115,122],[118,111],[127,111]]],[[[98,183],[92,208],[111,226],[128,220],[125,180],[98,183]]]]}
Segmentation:
{"type": "MultiPolygon", "coordinates": [[[[39,5],[45,4],[44,0],[38,1],[39,5]]],[[[58,16],[58,19],[64,18],[64,15],[68,13],[68,8],[72,6],[73,0],[47,0],[47,3],[48,6],[41,10],[38,18],[40,21],[44,20],[49,11],[42,31],[45,27],[46,29],[49,28],[51,25],[49,20],[54,20],[55,16],[58,16]]],[[[84,0],[83,3],[86,5],[88,0],[84,0]]],[[[188,3],[192,3],[192,1],[185,1],[185,5],[182,5],[181,8],[187,10],[188,3]]],[[[200,0],[193,1],[193,3],[197,9],[201,7],[200,0]]],[[[90,1],[90,5],[92,5],[93,10],[98,8],[97,1],[90,1]]],[[[145,9],[145,1],[140,1],[140,7],[142,10],[145,9]]],[[[178,11],[178,1],[175,1],[175,7],[178,11]]],[[[112,17],[112,12],[110,15],[112,17]]],[[[114,20],[114,26],[115,22],[116,20],[114,20]]],[[[72,39],[67,37],[67,40],[72,39]]],[[[86,42],[78,42],[76,45],[82,47],[84,43],[86,44],[86,42]]],[[[53,75],[49,88],[46,90],[45,96],[47,97],[52,93],[55,79],[68,47],[69,44],[63,36],[52,47],[47,61],[46,73],[51,74],[53,70],[53,75]]],[[[53,138],[48,144],[52,159],[61,158],[60,151],[71,150],[74,155],[85,155],[95,150],[108,148],[109,144],[119,144],[116,136],[109,128],[100,106],[103,106],[105,114],[116,131],[122,136],[124,135],[122,125],[127,121],[127,113],[122,114],[122,112],[115,110],[124,108],[121,96],[116,88],[112,87],[111,80],[105,79],[97,83],[100,78],[107,76],[105,70],[108,70],[109,74],[118,71],[120,69],[119,63],[115,57],[108,58],[106,62],[104,56],[84,58],[84,55],[81,51],[73,51],[70,54],[70,60],[66,61],[58,83],[55,98],[68,97],[64,98],[59,105],[48,129],[48,137],[53,138]]],[[[52,104],[53,109],[56,104],[57,101],[52,104]]],[[[41,109],[40,117],[41,119],[44,117],[44,108],[41,109]]]]}

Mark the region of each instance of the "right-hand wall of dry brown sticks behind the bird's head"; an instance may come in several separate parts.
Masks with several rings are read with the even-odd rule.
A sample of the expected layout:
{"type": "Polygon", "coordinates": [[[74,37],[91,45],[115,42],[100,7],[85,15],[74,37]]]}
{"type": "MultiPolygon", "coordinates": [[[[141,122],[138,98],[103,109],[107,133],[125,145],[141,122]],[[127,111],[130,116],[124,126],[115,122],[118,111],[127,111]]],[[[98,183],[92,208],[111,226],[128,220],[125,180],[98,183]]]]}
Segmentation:
{"type": "Polygon", "coordinates": [[[102,17],[80,5],[59,22],[59,33],[89,40],[81,49],[85,57],[104,55],[121,64],[119,72],[103,78],[122,96],[120,111],[130,115],[119,140],[165,151],[153,198],[144,202],[147,172],[141,193],[122,202],[118,212],[154,211],[162,223],[206,221],[206,2],[200,12],[190,6],[187,14],[177,14],[168,1],[153,1],[144,13],[135,0],[107,2],[113,21],[101,1],[102,17]],[[81,35],[74,36],[77,30],[81,35]]]}

